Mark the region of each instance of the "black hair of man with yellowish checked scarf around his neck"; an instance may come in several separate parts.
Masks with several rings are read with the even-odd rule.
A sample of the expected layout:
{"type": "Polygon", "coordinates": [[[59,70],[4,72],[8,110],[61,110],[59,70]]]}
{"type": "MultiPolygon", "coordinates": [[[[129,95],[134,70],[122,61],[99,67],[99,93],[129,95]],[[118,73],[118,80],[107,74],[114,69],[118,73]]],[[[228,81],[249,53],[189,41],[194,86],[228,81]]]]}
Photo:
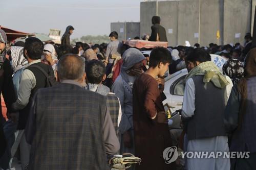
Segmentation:
{"type": "Polygon", "coordinates": [[[201,48],[195,48],[188,54],[188,56],[186,57],[186,61],[191,61],[193,63],[198,61],[200,63],[203,63],[206,61],[211,61],[211,58],[209,53],[207,53],[205,50],[202,50],[201,48]]]}

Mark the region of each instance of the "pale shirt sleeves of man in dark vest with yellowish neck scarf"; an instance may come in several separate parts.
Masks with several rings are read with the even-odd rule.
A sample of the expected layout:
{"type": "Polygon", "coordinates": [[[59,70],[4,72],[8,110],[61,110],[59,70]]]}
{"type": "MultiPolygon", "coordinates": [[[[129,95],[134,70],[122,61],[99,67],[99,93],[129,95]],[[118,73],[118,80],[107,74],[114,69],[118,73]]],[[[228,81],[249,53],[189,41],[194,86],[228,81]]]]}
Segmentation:
{"type": "MultiPolygon", "coordinates": [[[[226,77],[226,80],[229,82],[229,84],[226,86],[227,99],[228,99],[231,93],[233,83],[228,76],[225,76],[225,77],[226,77]]],[[[196,88],[195,88],[194,81],[192,78],[189,78],[186,82],[185,91],[184,91],[184,98],[183,98],[182,112],[181,112],[181,115],[183,117],[192,117],[194,115],[194,112],[196,110],[195,95],[196,95],[196,88]]]]}

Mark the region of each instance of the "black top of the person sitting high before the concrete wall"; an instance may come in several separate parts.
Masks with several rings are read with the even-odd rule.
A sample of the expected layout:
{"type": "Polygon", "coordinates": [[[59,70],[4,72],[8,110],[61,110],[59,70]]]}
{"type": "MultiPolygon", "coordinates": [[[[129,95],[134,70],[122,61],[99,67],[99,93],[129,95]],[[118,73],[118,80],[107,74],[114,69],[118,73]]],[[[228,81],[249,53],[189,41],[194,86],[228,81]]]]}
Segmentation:
{"type": "Polygon", "coordinates": [[[150,39],[148,39],[149,41],[157,41],[157,34],[159,37],[159,41],[163,41],[163,42],[168,41],[166,37],[165,29],[158,23],[152,26],[151,30],[152,30],[152,33],[151,33],[150,39]]]}

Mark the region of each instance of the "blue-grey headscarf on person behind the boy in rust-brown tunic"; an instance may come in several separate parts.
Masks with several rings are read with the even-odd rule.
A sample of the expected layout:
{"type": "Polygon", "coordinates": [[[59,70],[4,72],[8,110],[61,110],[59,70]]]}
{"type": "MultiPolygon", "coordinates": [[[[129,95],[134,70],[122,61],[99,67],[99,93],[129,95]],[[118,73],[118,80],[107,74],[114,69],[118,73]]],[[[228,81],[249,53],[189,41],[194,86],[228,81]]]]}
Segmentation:
{"type": "Polygon", "coordinates": [[[121,67],[121,77],[128,84],[127,70],[132,68],[135,64],[145,60],[144,55],[136,48],[129,48],[123,53],[123,64],[121,67]]]}

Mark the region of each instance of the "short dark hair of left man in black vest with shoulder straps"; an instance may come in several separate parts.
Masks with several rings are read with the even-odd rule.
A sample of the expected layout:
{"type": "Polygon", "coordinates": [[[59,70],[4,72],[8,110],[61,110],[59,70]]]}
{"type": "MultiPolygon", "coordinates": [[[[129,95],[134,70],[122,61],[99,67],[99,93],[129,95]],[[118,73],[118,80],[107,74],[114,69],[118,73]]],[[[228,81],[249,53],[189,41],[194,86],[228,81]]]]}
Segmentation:
{"type": "Polygon", "coordinates": [[[27,50],[28,56],[32,60],[41,59],[44,44],[36,37],[29,37],[25,40],[24,51],[27,50]]]}

